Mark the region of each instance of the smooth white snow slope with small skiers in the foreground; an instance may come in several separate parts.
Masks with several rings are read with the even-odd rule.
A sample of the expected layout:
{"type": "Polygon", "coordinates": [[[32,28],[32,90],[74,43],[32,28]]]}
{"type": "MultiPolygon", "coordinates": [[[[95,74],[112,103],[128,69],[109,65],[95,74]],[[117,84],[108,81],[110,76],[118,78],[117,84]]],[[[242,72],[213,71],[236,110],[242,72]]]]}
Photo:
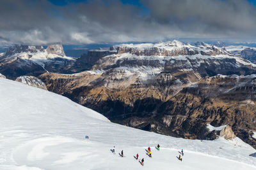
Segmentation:
{"type": "Polygon", "coordinates": [[[132,129],[63,96],[3,78],[0,116],[0,169],[256,169],[256,158],[249,156],[255,150],[239,138],[200,141],[132,129]]]}

